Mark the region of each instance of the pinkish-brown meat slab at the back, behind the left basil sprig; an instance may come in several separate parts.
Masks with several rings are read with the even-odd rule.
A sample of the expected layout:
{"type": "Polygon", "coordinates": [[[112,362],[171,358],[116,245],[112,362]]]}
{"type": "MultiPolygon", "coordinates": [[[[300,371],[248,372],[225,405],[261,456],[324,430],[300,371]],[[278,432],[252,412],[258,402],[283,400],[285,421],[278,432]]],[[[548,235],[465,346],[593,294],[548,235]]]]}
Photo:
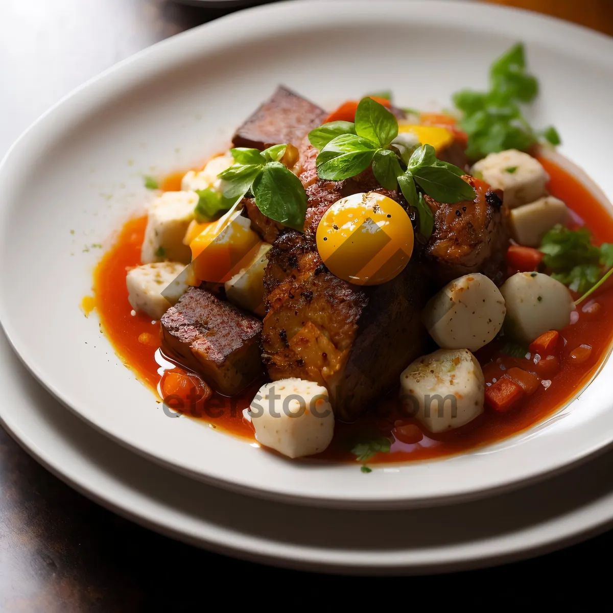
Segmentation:
{"type": "Polygon", "coordinates": [[[305,134],[321,125],[326,111],[279,86],[273,96],[238,128],[234,147],[265,149],[289,143],[298,147],[305,134]]]}

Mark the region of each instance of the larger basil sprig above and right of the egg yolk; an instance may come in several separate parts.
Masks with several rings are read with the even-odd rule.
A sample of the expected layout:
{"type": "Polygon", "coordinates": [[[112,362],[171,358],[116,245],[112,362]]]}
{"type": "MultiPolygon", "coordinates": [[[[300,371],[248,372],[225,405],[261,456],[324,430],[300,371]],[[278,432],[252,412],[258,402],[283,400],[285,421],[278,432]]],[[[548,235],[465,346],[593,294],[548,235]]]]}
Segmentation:
{"type": "Polygon", "coordinates": [[[356,121],[333,121],[309,133],[319,149],[317,173],[322,179],[342,181],[355,177],[372,164],[373,175],[386,189],[400,190],[417,209],[419,232],[432,235],[434,217],[424,195],[454,204],[474,200],[476,192],[462,179],[462,169],[436,159],[432,145],[397,147],[398,121],[383,105],[370,97],[357,105],[356,121]],[[390,148],[390,146],[392,148],[390,148]]]}

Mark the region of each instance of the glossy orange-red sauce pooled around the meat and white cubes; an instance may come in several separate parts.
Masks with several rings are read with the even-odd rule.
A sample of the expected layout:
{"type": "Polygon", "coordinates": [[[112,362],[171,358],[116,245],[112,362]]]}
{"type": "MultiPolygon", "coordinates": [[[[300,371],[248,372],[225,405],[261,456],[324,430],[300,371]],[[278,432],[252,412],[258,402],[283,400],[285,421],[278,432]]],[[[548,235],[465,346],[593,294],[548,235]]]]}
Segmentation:
{"type": "MultiPolygon", "coordinates": [[[[539,161],[549,173],[549,191],[564,200],[576,216],[585,222],[593,232],[594,242],[597,245],[613,242],[613,219],[600,202],[573,175],[560,169],[554,162],[547,159],[539,161]]],[[[171,175],[162,183],[162,188],[167,191],[180,189],[181,175],[171,175]]],[[[140,264],[140,246],[146,224],[147,218],[141,217],[124,225],[115,245],[96,268],[94,290],[96,309],[104,332],[124,364],[132,368],[151,389],[156,390],[160,402],[159,397],[165,395],[166,374],[186,371],[177,364],[168,364],[160,359],[159,322],[153,323],[151,318],[143,314],[131,314],[126,289],[126,268],[140,264]],[[158,362],[166,363],[166,367],[158,362]]],[[[607,286],[607,289],[596,292],[590,299],[579,305],[577,321],[560,332],[565,340],[562,370],[550,379],[549,387],[541,384],[535,394],[524,398],[509,413],[495,413],[486,406],[484,413],[465,427],[433,435],[422,429],[414,419],[403,417],[397,400],[398,390],[395,389],[373,407],[375,410],[368,416],[352,424],[337,422],[332,444],[317,457],[356,462],[355,456],[351,454],[356,442],[387,436],[394,440],[390,453],[377,454],[369,463],[430,459],[492,443],[543,421],[579,394],[607,355],[613,335],[613,289],[607,286]],[[593,303],[600,305],[598,313],[585,312],[586,309],[590,311],[593,303]],[[581,345],[590,346],[592,350],[580,350],[577,355],[581,354],[582,359],[585,359],[585,354],[588,357],[578,364],[579,360],[572,359],[571,353],[581,345]]],[[[514,366],[531,370],[529,360],[501,354],[496,341],[480,349],[476,355],[484,369],[486,383],[492,383],[503,376],[505,370],[514,366]]],[[[207,402],[194,403],[192,410],[187,408],[186,413],[208,422],[211,427],[254,441],[253,429],[243,420],[242,410],[249,406],[258,387],[256,383],[234,398],[213,394],[207,402]]]]}

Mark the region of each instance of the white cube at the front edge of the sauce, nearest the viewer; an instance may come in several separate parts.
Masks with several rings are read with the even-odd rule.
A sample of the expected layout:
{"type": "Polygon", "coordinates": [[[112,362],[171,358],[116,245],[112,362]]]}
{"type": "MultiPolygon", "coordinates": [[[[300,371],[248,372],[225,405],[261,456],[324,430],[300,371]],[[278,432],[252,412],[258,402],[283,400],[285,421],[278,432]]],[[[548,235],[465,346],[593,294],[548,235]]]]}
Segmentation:
{"type": "Polygon", "coordinates": [[[258,443],[291,458],[324,451],[334,433],[328,390],[313,381],[265,384],[249,406],[249,417],[258,443]]]}

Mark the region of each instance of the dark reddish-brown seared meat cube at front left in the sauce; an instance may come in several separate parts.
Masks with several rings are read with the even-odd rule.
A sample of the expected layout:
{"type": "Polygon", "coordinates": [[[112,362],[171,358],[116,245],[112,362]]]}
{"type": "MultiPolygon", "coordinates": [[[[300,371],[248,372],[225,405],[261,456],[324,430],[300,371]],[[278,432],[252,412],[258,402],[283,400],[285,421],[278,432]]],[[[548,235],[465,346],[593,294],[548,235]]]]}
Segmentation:
{"type": "Polygon", "coordinates": [[[262,322],[205,289],[188,289],[161,324],[164,348],[221,394],[237,394],[262,373],[262,322]]]}

